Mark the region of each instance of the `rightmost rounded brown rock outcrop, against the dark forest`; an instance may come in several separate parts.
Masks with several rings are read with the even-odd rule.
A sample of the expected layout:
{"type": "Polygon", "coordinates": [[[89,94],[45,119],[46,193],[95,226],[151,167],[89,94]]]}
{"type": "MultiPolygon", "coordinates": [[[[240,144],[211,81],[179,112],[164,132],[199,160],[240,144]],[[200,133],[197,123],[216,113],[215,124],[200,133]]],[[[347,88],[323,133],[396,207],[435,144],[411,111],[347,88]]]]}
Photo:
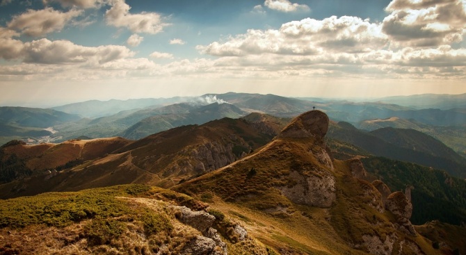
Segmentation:
{"type": "Polygon", "coordinates": [[[410,222],[412,204],[401,191],[393,192],[387,197],[385,209],[396,216],[395,226],[412,236],[416,236],[416,230],[410,222]]]}

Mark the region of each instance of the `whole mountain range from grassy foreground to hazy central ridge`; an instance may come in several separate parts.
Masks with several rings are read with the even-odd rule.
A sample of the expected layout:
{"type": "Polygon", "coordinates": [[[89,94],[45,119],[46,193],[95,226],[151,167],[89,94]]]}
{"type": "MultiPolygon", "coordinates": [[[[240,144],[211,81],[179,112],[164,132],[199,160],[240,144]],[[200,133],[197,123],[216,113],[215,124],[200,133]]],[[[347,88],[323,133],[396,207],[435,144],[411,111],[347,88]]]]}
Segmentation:
{"type": "Polygon", "coordinates": [[[66,114],[49,130],[81,138],[1,146],[0,252],[34,254],[26,236],[49,237],[38,254],[466,252],[466,159],[414,129],[461,133],[463,110],[202,98],[66,114]],[[122,137],[82,136],[100,132],[122,137]]]}

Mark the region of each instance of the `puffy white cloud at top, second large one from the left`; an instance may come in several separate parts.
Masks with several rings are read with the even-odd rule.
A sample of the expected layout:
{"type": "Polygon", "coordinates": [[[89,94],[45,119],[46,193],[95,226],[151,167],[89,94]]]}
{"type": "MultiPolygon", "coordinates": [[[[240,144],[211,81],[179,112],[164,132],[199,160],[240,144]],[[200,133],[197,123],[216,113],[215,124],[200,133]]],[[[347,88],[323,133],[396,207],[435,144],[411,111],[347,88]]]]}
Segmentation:
{"type": "Polygon", "coordinates": [[[160,33],[163,27],[168,26],[158,13],[129,13],[131,7],[124,0],[112,0],[111,6],[105,13],[106,22],[111,26],[128,28],[133,33],[150,34],[160,33]]]}

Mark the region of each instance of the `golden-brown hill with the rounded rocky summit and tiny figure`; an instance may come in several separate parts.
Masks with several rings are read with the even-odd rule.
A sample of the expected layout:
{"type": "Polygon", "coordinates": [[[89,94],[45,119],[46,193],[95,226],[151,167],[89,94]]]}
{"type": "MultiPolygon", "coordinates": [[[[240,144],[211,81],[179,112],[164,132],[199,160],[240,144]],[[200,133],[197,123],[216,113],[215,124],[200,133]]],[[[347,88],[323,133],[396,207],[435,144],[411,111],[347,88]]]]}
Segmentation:
{"type": "Polygon", "coordinates": [[[174,189],[211,197],[250,224],[268,220],[250,233],[280,254],[439,253],[410,224],[402,192],[385,200],[360,179],[359,161],[332,161],[327,129],[325,114],[304,113],[255,154],[174,189]]]}

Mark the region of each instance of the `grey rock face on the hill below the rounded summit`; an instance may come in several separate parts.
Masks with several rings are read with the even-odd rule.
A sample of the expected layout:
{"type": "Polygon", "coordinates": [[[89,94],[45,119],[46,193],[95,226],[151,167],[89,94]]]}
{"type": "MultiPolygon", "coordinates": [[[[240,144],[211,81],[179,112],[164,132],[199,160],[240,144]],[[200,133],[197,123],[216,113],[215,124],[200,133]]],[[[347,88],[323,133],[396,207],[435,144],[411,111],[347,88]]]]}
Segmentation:
{"type": "Polygon", "coordinates": [[[282,195],[296,204],[328,208],[337,199],[335,177],[326,170],[314,170],[306,176],[291,171],[289,180],[296,184],[279,189],[282,195]]]}

